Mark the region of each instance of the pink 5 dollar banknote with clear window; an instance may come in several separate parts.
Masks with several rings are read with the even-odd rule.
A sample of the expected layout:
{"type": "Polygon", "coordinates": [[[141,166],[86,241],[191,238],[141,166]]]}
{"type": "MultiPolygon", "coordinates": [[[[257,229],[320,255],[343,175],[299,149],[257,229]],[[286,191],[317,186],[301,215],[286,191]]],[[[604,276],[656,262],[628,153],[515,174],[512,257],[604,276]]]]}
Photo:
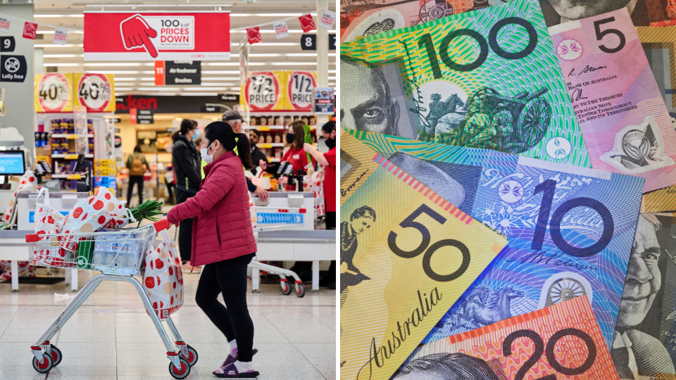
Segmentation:
{"type": "Polygon", "coordinates": [[[676,184],[676,130],[627,10],[549,32],[592,167],[676,184]]]}

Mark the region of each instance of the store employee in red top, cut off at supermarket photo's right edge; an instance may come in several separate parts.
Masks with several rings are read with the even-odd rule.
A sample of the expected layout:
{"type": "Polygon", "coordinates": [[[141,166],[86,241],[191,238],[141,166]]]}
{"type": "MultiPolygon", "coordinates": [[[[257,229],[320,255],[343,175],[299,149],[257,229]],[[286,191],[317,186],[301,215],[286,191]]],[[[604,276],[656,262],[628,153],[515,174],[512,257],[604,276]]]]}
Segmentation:
{"type": "Polygon", "coordinates": [[[320,153],[312,144],[304,144],[303,149],[325,167],[324,201],[326,203],[326,229],[336,229],[336,122],[327,122],[322,127],[327,153],[320,153]]]}

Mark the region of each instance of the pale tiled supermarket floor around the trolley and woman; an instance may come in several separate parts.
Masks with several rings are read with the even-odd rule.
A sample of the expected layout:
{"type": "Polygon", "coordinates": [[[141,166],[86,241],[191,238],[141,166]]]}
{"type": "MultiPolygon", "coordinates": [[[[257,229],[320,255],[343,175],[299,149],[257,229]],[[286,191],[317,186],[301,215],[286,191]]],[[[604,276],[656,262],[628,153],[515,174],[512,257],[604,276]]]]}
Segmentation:
{"type": "MultiPolygon", "coordinates": [[[[80,287],[92,274],[80,271],[80,287]]],[[[195,304],[199,274],[184,274],[184,279],[185,292],[192,296],[172,318],[199,354],[187,379],[216,379],[211,372],[229,346],[195,304]]],[[[35,372],[30,346],[69,302],[55,300],[55,292],[73,294],[63,282],[22,284],[18,293],[11,292],[10,284],[0,284],[0,379],[173,379],[151,319],[132,285],[123,282],[104,282],[92,293],[58,340],[52,339],[63,352],[61,364],[46,375],[35,372]]],[[[297,298],[282,295],[279,285],[261,285],[261,293],[249,293],[248,303],[256,329],[253,364],[261,372],[258,379],[336,378],[334,290],[312,293],[308,284],[306,296],[297,298]]]]}

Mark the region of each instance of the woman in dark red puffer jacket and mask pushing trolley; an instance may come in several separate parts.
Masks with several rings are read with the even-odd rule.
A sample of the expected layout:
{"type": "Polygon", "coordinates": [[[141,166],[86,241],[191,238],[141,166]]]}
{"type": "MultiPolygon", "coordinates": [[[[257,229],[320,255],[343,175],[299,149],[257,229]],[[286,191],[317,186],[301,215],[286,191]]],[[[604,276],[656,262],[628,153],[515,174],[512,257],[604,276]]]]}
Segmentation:
{"type": "Polygon", "coordinates": [[[226,122],[212,122],[204,129],[201,156],[208,165],[200,190],[170,210],[167,218],[173,224],[194,218],[191,261],[205,265],[196,302],[231,346],[213,374],[255,377],[253,321],[246,307],[246,267],[256,253],[244,177],[244,170],[253,166],[249,139],[226,122]],[[218,301],[219,293],[225,307],[218,301]]]}

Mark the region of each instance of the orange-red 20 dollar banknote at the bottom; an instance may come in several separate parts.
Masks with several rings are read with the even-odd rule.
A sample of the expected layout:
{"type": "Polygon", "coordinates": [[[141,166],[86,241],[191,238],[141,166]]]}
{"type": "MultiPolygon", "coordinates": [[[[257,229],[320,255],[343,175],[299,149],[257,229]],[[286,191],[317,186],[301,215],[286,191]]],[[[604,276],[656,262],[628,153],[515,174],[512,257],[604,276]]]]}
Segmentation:
{"type": "Polygon", "coordinates": [[[589,306],[582,296],[434,341],[392,380],[617,380],[589,306]]]}

